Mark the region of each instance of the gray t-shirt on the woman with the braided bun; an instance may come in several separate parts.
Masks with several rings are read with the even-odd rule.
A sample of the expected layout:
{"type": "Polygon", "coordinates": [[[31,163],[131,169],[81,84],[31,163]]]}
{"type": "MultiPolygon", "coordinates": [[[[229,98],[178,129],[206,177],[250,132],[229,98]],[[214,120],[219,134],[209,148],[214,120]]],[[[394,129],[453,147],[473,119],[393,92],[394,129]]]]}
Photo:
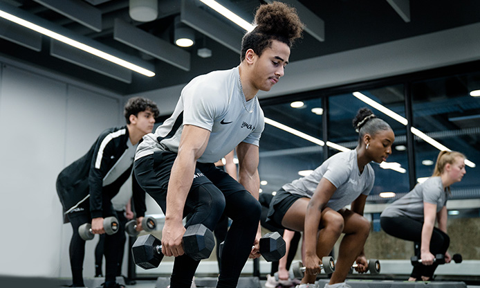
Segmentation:
{"type": "Polygon", "coordinates": [[[369,195],[375,174],[370,164],[365,165],[360,174],[357,151],[354,149],[331,156],[308,176],[285,184],[282,188],[292,194],[311,198],[322,178],[337,188],[326,206],[338,211],[351,204],[360,194],[369,195]]]}

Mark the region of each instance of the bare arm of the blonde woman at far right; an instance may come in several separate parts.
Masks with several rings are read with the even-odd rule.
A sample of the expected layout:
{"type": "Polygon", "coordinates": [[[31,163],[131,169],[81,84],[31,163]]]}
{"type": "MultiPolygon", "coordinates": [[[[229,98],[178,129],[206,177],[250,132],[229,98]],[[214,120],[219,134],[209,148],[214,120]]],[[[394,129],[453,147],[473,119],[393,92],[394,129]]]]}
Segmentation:
{"type": "Polygon", "coordinates": [[[435,226],[436,204],[423,202],[422,242],[420,247],[422,264],[433,264],[434,255],[430,253],[430,240],[435,226]]]}

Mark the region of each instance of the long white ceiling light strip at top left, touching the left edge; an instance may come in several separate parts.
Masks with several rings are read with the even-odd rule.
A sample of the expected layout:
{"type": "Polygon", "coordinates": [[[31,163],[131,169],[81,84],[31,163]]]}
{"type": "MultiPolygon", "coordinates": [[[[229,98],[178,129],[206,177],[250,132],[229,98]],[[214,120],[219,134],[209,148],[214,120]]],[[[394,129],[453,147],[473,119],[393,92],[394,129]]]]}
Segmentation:
{"type": "Polygon", "coordinates": [[[142,68],[140,66],[137,66],[136,64],[132,64],[130,62],[127,62],[125,60],[122,60],[118,57],[115,57],[113,55],[110,55],[108,53],[104,53],[103,51],[100,51],[96,48],[93,48],[91,46],[88,46],[86,44],[83,44],[83,43],[80,43],[80,42],[77,42],[73,39],[70,39],[68,37],[65,37],[64,35],[60,35],[58,33],[55,33],[53,32],[52,30],[48,30],[46,28],[43,28],[41,26],[38,26],[37,24],[33,24],[32,22],[29,22],[29,21],[26,21],[24,19],[21,19],[15,15],[11,15],[7,12],[3,12],[2,10],[0,10],[0,17],[4,18],[4,19],[7,19],[9,21],[12,21],[16,24],[19,24],[21,26],[24,26],[26,28],[29,28],[29,29],[32,29],[32,30],[35,30],[37,31],[38,33],[41,33],[43,35],[46,35],[48,37],[51,37],[59,42],[63,42],[65,44],[68,44],[68,45],[71,45],[75,48],[78,48],[82,51],[85,51],[85,52],[88,52],[88,53],[91,53],[95,56],[98,56],[98,57],[101,57],[103,58],[104,60],[108,60],[110,62],[113,62],[115,64],[118,64],[120,66],[123,66],[127,69],[130,69],[132,71],[136,71],[142,75],[145,75],[145,76],[148,76],[148,77],[152,77],[155,75],[154,72],[152,71],[149,71],[145,68],[142,68]]]}

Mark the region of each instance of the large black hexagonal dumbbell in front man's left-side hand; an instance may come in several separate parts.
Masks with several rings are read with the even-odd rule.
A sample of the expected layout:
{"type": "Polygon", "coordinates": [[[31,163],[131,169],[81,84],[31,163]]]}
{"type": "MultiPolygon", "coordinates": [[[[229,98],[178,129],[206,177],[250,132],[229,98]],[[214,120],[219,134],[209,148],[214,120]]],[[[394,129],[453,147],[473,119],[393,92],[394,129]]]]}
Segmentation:
{"type": "MultiPolygon", "coordinates": [[[[203,224],[189,226],[183,235],[183,251],[194,260],[209,258],[214,246],[213,233],[203,224]]],[[[142,235],[133,243],[131,253],[138,266],[156,268],[163,259],[162,242],[154,235],[142,235]]]]}

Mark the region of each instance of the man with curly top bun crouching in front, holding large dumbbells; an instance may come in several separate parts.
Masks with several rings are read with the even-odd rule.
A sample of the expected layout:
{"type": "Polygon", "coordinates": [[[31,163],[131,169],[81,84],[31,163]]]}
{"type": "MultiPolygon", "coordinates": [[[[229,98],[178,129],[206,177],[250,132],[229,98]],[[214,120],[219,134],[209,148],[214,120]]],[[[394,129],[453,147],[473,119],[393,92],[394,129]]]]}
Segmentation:
{"type": "Polygon", "coordinates": [[[213,231],[223,214],[232,219],[217,287],[237,287],[248,258],[259,257],[257,167],[264,113],[257,92],[269,91],[284,75],[303,24],[295,9],[279,2],[260,6],[255,22],[255,29],[243,37],[239,66],[190,81],[172,116],[144,136],[136,152],[138,182],[165,213],[162,252],[176,257],[172,288],[190,287],[199,265],[182,246],[191,225],[213,231]],[[235,147],[238,182],[214,165],[235,147]],[[182,219],[188,214],[184,227],[182,219]]]}

